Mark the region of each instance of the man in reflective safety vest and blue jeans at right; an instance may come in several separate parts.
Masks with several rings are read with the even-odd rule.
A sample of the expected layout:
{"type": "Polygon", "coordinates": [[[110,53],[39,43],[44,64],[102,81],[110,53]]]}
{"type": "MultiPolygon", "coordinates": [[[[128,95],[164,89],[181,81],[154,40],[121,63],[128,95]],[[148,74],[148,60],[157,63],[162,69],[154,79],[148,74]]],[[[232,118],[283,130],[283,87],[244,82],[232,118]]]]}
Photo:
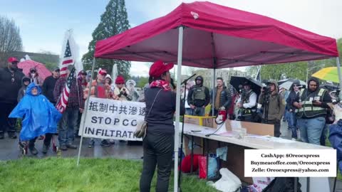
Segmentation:
{"type": "Polygon", "coordinates": [[[326,113],[331,97],[319,88],[319,81],[311,78],[307,89],[301,89],[295,102],[297,125],[301,132],[301,141],[310,144],[320,144],[321,134],[326,124],[326,113]]]}

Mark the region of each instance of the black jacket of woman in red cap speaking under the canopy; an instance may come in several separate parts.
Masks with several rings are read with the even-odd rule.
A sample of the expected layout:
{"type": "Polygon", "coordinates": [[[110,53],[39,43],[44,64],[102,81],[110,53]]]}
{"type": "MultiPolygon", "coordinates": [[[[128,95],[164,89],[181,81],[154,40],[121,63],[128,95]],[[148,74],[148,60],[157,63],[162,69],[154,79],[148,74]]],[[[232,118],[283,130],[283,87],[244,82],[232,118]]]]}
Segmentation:
{"type": "MultiPolygon", "coordinates": [[[[152,107],[153,100],[159,87],[147,88],[145,90],[146,115],[152,107]]],[[[150,114],[147,116],[147,133],[162,132],[166,134],[174,134],[175,126],[173,124],[173,116],[176,110],[176,93],[161,90],[155,100],[150,114]]],[[[180,114],[184,114],[184,107],[181,105],[180,114]]]]}

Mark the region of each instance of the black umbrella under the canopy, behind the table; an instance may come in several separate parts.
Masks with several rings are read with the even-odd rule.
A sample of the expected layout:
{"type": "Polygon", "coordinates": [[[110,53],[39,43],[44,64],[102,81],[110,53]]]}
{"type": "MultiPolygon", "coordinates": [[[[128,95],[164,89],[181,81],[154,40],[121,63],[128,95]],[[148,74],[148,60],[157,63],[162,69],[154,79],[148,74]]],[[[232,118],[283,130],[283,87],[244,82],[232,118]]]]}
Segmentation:
{"type": "Polygon", "coordinates": [[[250,82],[251,89],[255,93],[257,93],[257,95],[259,95],[262,84],[261,82],[251,78],[250,76],[247,76],[247,77],[232,76],[230,78],[230,85],[232,85],[235,90],[239,91],[243,88],[244,82],[247,82],[247,81],[250,82]]]}

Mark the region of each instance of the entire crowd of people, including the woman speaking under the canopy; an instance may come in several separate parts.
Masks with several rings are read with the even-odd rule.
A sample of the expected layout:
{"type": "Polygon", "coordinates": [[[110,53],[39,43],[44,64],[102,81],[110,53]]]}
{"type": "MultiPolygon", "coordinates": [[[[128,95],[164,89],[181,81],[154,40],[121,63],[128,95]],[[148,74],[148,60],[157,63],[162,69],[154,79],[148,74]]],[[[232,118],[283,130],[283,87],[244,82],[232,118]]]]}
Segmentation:
{"type": "MultiPolygon", "coordinates": [[[[4,139],[5,132],[9,138],[16,139],[15,118],[20,117],[24,118],[22,127],[28,127],[26,131],[33,133],[30,138],[20,137],[21,140],[28,141],[31,154],[38,154],[35,142],[41,135],[45,135],[42,137],[42,152],[47,153],[57,127],[60,149],[77,149],[74,140],[78,135],[81,115],[88,97],[145,102],[148,129],[142,141],[144,156],[140,191],[150,190],[156,166],[157,191],[167,191],[175,145],[173,121],[176,86],[169,72],[173,63],[163,63],[160,60],[153,63],[149,82],[142,94],[135,90],[134,81],[126,82],[121,75],[113,80],[103,69],[98,69],[93,81],[90,81],[91,74],[82,70],[77,78],[68,82],[73,65],[68,65],[66,76],[61,77],[60,69],[55,68],[51,76],[42,80],[36,68],[31,68],[25,75],[18,68],[18,63],[16,58],[9,58],[7,67],[0,69],[0,86],[3,87],[0,90],[0,139],[4,139]],[[68,104],[61,114],[55,106],[66,83],[71,83],[71,88],[68,104]],[[39,127],[39,132],[35,131],[36,127],[39,127]]],[[[252,88],[250,80],[240,84],[236,89],[232,85],[226,86],[223,78],[217,78],[217,85],[211,90],[204,86],[202,76],[197,76],[195,82],[190,81],[182,87],[186,101],[184,107],[181,105],[180,114],[204,116],[205,108],[212,103],[209,115],[216,116],[223,110],[228,119],[274,124],[274,137],[281,136],[281,119],[284,119],[291,129],[292,139],[298,139],[299,129],[302,142],[325,144],[327,124],[332,123],[332,97],[319,86],[317,79],[310,79],[307,87],[295,80],[289,90],[279,90],[274,80],[267,81],[264,87],[259,87],[260,90],[252,88]]],[[[111,144],[115,144],[111,139],[100,141],[101,146],[111,144]]],[[[94,145],[95,139],[89,139],[88,147],[92,148],[94,145]]]]}

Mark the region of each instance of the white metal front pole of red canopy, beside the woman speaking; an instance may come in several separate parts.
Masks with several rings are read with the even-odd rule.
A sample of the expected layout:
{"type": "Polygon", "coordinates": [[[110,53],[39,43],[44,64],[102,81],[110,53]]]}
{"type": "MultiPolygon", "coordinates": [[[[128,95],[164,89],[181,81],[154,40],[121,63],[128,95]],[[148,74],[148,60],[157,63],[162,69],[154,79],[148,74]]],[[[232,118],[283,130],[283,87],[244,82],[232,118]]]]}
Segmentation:
{"type": "MultiPolygon", "coordinates": [[[[176,95],[176,124],[175,124],[175,174],[174,186],[175,192],[178,192],[178,148],[180,142],[180,75],[182,74],[182,49],[183,49],[183,30],[178,28],[178,53],[177,53],[177,95],[176,95]]],[[[182,150],[182,149],[181,149],[182,150]]]]}

